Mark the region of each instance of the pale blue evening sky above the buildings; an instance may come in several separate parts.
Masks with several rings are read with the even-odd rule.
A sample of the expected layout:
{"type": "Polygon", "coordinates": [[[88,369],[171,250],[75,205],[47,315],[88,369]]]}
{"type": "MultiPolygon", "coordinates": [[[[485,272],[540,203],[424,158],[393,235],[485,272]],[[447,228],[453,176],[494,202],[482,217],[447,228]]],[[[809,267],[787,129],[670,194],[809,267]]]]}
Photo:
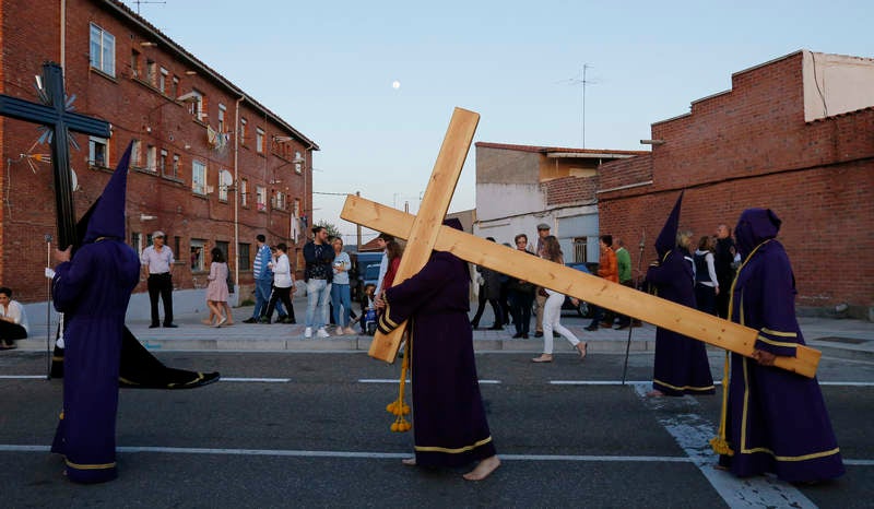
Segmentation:
{"type": "MultiPolygon", "coordinates": [[[[131,9],[135,2],[126,0],[131,9]]],[[[652,122],[798,49],[874,57],[870,0],[167,0],[140,14],[321,147],[314,191],[418,208],[452,108],[474,142],[646,150],[652,122]],[[392,81],[401,83],[392,88],[392,81]]],[[[472,209],[474,147],[450,211],[472,209]]],[[[315,220],[342,197],[315,194],[315,220]]]]}

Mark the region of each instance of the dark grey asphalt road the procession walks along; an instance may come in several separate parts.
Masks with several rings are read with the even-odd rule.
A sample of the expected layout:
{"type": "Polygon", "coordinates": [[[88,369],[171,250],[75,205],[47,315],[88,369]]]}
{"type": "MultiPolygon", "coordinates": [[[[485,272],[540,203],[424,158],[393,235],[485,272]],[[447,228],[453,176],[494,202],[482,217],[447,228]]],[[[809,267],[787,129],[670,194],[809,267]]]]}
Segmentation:
{"type": "MultiPolygon", "coordinates": [[[[734,480],[706,440],[721,393],[659,399],[622,386],[622,355],[477,355],[504,464],[488,480],[403,466],[411,434],[385,405],[400,366],[364,353],[162,353],[174,367],[218,369],[189,391],[122,390],[119,478],[80,486],[47,451],[61,382],[35,352],[0,356],[0,506],[17,507],[871,507],[874,363],[824,358],[819,379],[847,461],[827,485],[734,480]],[[34,376],[37,378],[22,378],[34,376]],[[237,379],[237,380],[234,380],[237,379]],[[257,379],[257,380],[256,380],[257,379]]],[[[713,355],[714,377],[721,356],[713,355]]],[[[628,379],[646,381],[636,354],[628,379]]]]}

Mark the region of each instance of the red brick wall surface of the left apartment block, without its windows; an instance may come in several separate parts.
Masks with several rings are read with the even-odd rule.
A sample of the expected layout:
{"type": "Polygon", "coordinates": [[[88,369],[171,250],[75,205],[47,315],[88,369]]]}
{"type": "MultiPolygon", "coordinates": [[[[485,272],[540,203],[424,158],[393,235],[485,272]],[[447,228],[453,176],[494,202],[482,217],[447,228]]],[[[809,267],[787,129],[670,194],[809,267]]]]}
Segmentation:
{"type": "MultiPolygon", "coordinates": [[[[109,141],[109,166],[115,167],[121,152],[132,139],[142,141],[142,159],[145,163],[145,149],[153,144],[160,152],[168,152],[168,165],[173,154],[181,155],[180,178],[166,178],[149,171],[131,171],[128,179],[128,236],[138,232],[143,241],[146,234],[162,229],[167,234],[167,244],[174,246],[174,237],[180,237],[180,251],[176,257],[181,261],[176,268],[177,287],[190,288],[193,277],[199,284],[205,284],[205,274],[192,274],[189,269],[190,239],[208,240],[208,249],[215,241],[226,241],[231,246],[231,260],[236,256],[234,242],[234,200],[232,190],[227,201],[218,200],[218,170],[234,173],[234,137],[226,150],[217,151],[206,142],[206,125],[217,127],[218,104],[226,106],[225,130],[233,131],[235,108],[238,94],[227,90],[221,82],[213,80],[209,73],[186,74],[191,64],[170,52],[167,47],[143,47],[141,42],[154,42],[154,37],[142,32],[132,24],[127,24],[113,11],[98,5],[103,2],[90,0],[68,0],[67,2],[67,67],[64,70],[68,94],[75,94],[74,103],[78,113],[109,120],[113,123],[113,137],[109,141]],[[90,23],[96,23],[115,36],[116,40],[116,75],[110,78],[88,67],[88,29],[90,23]],[[192,87],[206,97],[205,108],[209,114],[204,122],[198,122],[188,113],[188,105],[178,105],[170,98],[142,81],[132,79],[131,50],[141,52],[141,70],[144,70],[146,58],[153,59],[158,67],[169,71],[169,75],[180,79],[180,93],[192,87]],[[186,147],[188,145],[188,147],[186,147]],[[215,192],[203,197],[191,190],[191,164],[197,158],[205,162],[209,186],[215,192]],[[156,216],[153,221],[140,221],[141,214],[156,216]],[[200,281],[203,280],[203,281],[200,281]]],[[[3,0],[0,17],[2,19],[2,92],[28,100],[36,100],[33,88],[35,74],[42,73],[44,61],[60,61],[59,51],[59,11],[58,2],[38,8],[34,2],[24,0],[3,0]]],[[[168,80],[170,81],[170,80],[168,80]]],[[[167,94],[173,94],[168,85],[167,94]]],[[[293,133],[279,123],[268,120],[262,110],[253,108],[247,102],[241,104],[240,115],[248,120],[247,139],[239,150],[239,176],[248,179],[248,208],[239,209],[239,241],[252,245],[255,254],[255,236],[263,233],[268,241],[290,244],[291,254],[295,249],[288,239],[290,212],[294,199],[302,200],[306,192],[309,196],[311,181],[306,182],[304,176],[294,171],[291,158],[295,151],[307,153],[308,146],[296,139],[291,143],[291,151],[284,155],[273,152],[273,135],[290,137],[293,133]],[[265,132],[264,153],[255,150],[256,129],[265,132]],[[275,181],[274,184],[270,184],[275,181]],[[276,191],[287,196],[287,211],[267,211],[256,208],[256,186],[264,186],[268,201],[276,191]]],[[[17,120],[0,118],[0,140],[2,157],[17,158],[20,153],[28,152],[36,141],[36,127],[17,120]]],[[[71,165],[78,174],[80,189],[74,193],[75,206],[81,215],[90,204],[99,197],[108,180],[109,171],[92,168],[87,165],[87,137],[75,134],[81,145],[80,152],[71,151],[71,165]]],[[[37,145],[33,152],[49,153],[48,145],[37,145]]],[[[55,200],[52,194],[51,168],[46,164],[37,164],[38,171],[33,174],[25,163],[13,163],[7,171],[2,169],[4,209],[0,215],[0,281],[15,291],[21,300],[39,300],[46,298],[43,267],[46,264],[46,244],[44,234],[55,235],[55,200]],[[7,203],[7,198],[9,201],[7,203]]],[[[311,201],[306,200],[309,204],[311,201]]],[[[302,211],[302,214],[306,212],[302,211]]],[[[300,244],[299,246],[303,246],[300,244]]],[[[209,261],[209,258],[206,258],[209,261]]],[[[250,268],[240,267],[241,271],[250,268]]],[[[250,273],[241,272],[240,283],[251,281],[250,273]]],[[[144,291],[142,284],[138,291],[144,291]]]]}

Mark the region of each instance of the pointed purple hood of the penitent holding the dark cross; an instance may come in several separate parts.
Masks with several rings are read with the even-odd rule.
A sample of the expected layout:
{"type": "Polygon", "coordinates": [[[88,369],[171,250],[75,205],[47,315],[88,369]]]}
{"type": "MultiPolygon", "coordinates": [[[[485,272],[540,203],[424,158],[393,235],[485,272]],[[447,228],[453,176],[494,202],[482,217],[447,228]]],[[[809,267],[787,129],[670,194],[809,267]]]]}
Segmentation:
{"type": "MultiPolygon", "coordinates": [[[[99,237],[115,237],[125,239],[125,205],[127,203],[128,165],[130,151],[133,144],[128,145],[125,155],[118,162],[115,173],[109,178],[103,194],[88,211],[88,226],[82,244],[93,242],[99,237]]],[[[85,214],[87,216],[87,213],[85,214]]],[[[84,218],[84,217],[83,217],[84,218]]]]}

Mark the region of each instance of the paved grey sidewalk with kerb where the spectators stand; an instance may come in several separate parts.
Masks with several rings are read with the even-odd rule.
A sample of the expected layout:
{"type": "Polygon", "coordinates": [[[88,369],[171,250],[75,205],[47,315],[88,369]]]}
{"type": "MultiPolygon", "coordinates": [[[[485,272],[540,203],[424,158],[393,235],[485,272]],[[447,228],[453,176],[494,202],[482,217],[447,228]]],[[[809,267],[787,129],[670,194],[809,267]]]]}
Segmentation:
{"type": "MultiPolygon", "coordinates": [[[[206,327],[201,320],[206,318],[205,303],[199,295],[179,295],[174,293],[174,308],[176,308],[175,322],[177,329],[149,329],[147,297],[131,300],[131,307],[137,312],[128,312],[127,325],[149,350],[152,351],[226,351],[226,352],[320,352],[320,351],[364,351],[370,347],[373,338],[368,335],[342,335],[328,339],[304,339],[304,318],[306,313],[306,297],[293,300],[296,324],[260,324],[243,323],[252,313],[252,306],[234,308],[233,327],[220,329],[206,327]],[[145,312],[143,312],[143,309],[145,312]]],[[[140,294],[141,295],[141,294],[140,294]]],[[[475,303],[471,303],[475,308],[475,303]]],[[[355,305],[357,307],[357,305],[355,305]]],[[[356,310],[357,311],[357,310],[356,310]]],[[[43,315],[34,316],[28,312],[31,322],[31,338],[19,342],[23,351],[43,351],[46,348],[46,319],[45,305],[43,315]]],[[[471,311],[471,315],[473,312],[471,311]]],[[[57,316],[52,313],[54,322],[57,316]]],[[[599,329],[595,332],[583,330],[588,320],[563,319],[565,327],[570,329],[578,338],[589,342],[591,353],[624,353],[628,342],[628,330],[617,331],[599,329]]],[[[824,356],[874,360],[874,323],[851,319],[829,319],[800,317],[802,332],[807,344],[823,352],[824,356]]],[[[482,324],[493,323],[491,308],[481,320],[482,324]]],[[[54,324],[51,330],[54,331],[54,324]]],[[[533,331],[533,323],[532,323],[533,331]]],[[[653,352],[656,347],[656,328],[648,323],[631,330],[631,352],[653,352]]],[[[52,332],[54,334],[54,332],[52,332]]],[[[529,340],[512,339],[511,328],[503,331],[475,330],[473,331],[474,348],[477,352],[525,352],[540,353],[543,341],[535,339],[533,333],[529,340]]],[[[564,339],[555,341],[556,353],[571,353],[570,344],[564,339]]],[[[713,348],[718,350],[718,348],[713,348]]]]}

